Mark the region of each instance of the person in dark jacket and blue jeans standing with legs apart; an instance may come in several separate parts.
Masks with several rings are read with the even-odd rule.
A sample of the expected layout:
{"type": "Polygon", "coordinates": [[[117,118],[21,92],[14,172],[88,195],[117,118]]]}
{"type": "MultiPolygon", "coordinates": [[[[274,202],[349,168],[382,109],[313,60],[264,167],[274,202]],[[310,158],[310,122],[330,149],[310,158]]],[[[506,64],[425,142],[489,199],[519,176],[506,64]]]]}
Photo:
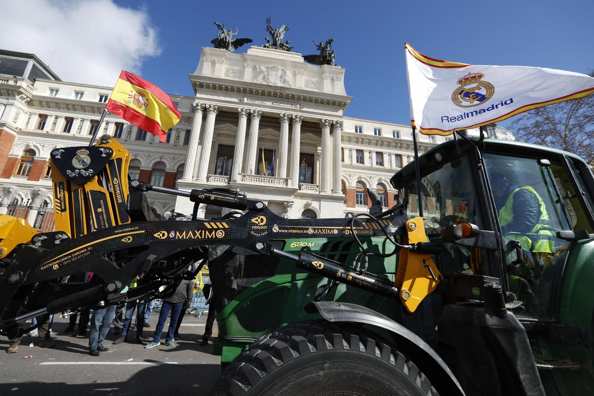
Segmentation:
{"type": "Polygon", "coordinates": [[[175,289],[175,293],[169,298],[163,300],[163,306],[159,313],[159,322],[154,329],[153,341],[145,345],[145,348],[156,347],[161,344],[161,336],[163,334],[163,327],[165,327],[165,321],[169,312],[171,312],[171,319],[169,320],[169,331],[165,337],[165,345],[168,347],[175,347],[173,343],[173,332],[175,332],[175,326],[178,323],[179,313],[181,313],[184,301],[188,299],[192,300],[192,291],[194,290],[194,284],[189,280],[182,280],[179,282],[178,287],[175,289]]]}

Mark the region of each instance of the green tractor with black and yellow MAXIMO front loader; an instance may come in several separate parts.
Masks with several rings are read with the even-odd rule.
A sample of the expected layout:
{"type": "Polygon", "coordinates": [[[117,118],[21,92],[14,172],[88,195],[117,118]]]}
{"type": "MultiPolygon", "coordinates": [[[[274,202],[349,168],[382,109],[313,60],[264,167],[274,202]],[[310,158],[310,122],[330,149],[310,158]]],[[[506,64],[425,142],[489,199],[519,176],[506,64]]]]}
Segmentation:
{"type": "Polygon", "coordinates": [[[78,149],[52,153],[61,231],[0,218],[5,335],[46,313],[166,297],[202,260],[224,369],[211,395],[594,393],[594,178],[571,153],[453,140],[393,176],[394,208],[312,220],[236,191],[122,183],[129,154],[109,137],[87,147],[97,168],[71,176],[78,149]],[[148,190],[241,212],[152,221],[148,190]],[[99,280],[60,282],[83,271],[99,280]]]}

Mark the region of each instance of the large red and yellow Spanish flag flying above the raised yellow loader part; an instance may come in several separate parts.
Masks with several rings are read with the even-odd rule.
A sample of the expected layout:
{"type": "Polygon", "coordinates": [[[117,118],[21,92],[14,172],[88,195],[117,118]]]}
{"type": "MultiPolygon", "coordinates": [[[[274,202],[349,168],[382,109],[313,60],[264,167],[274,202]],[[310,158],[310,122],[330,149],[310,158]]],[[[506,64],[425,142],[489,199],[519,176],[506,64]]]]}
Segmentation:
{"type": "Polygon", "coordinates": [[[169,96],[153,83],[122,70],[105,109],[159,136],[166,142],[167,131],[182,116],[169,96]]]}

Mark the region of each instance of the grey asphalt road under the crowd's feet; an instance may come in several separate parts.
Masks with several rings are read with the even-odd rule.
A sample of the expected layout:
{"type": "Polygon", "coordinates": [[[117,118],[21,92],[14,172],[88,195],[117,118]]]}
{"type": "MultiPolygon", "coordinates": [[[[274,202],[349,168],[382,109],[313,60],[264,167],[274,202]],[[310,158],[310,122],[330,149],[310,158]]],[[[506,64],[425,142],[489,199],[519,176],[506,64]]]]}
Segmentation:
{"type": "MultiPolygon", "coordinates": [[[[126,342],[112,345],[118,337],[112,326],[103,342],[109,351],[98,357],[89,355],[89,332],[86,337],[64,333],[68,319],[59,316],[53,319],[53,348],[40,348],[39,337],[25,336],[18,352],[7,354],[8,341],[1,337],[0,395],[206,396],[220,375],[220,357],[211,354],[212,342],[204,347],[198,345],[206,316],[185,316],[179,331],[182,339],[175,341],[175,348],[161,344],[144,349],[126,342]],[[33,347],[28,346],[31,342],[33,347]],[[33,357],[23,359],[27,355],[33,357]]],[[[159,309],[154,309],[149,320],[151,327],[144,329],[145,338],[152,337],[158,318],[159,309]]],[[[168,323],[169,320],[165,330],[168,323]]],[[[213,337],[216,332],[215,325],[213,337]]],[[[135,333],[131,331],[131,335],[135,333]]]]}

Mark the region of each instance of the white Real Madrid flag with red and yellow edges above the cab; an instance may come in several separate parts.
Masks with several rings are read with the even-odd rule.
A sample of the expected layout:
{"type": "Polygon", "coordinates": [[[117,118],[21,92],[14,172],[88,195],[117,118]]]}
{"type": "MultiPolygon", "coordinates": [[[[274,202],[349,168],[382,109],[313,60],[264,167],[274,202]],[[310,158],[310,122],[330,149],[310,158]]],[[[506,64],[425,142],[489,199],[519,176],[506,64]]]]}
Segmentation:
{"type": "Polygon", "coordinates": [[[571,71],[440,61],[405,43],[412,126],[449,135],[594,92],[594,78],[571,71]]]}

